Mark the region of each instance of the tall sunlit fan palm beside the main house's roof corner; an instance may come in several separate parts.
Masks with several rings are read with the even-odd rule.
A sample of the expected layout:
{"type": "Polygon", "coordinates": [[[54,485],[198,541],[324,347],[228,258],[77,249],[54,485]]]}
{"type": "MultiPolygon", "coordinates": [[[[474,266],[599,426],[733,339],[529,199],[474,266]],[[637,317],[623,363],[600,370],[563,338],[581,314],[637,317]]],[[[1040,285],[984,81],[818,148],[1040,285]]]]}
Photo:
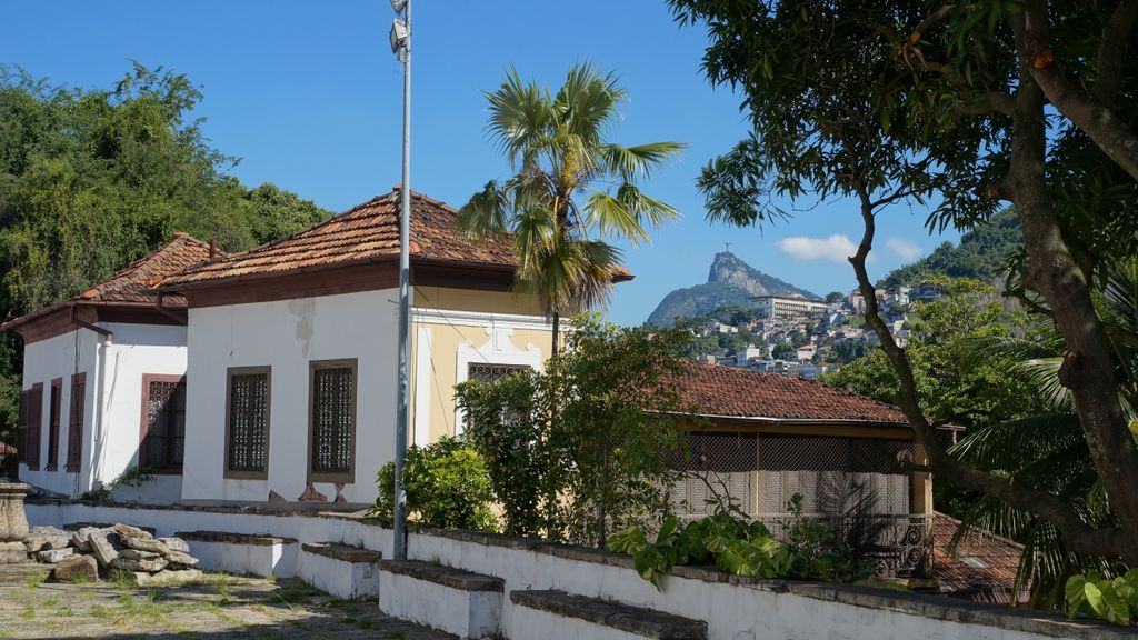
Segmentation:
{"type": "Polygon", "coordinates": [[[636,246],[649,240],[649,229],[678,218],[637,181],[684,145],[605,141],[627,96],[615,75],[592,65],[570,68],[556,95],[511,69],[486,98],[487,130],[513,175],[475,194],[462,207],[460,225],[475,237],[511,236],[514,287],[542,300],[553,321],[555,355],[561,314],[604,304],[621,273],[620,251],[599,236],[636,246]]]}

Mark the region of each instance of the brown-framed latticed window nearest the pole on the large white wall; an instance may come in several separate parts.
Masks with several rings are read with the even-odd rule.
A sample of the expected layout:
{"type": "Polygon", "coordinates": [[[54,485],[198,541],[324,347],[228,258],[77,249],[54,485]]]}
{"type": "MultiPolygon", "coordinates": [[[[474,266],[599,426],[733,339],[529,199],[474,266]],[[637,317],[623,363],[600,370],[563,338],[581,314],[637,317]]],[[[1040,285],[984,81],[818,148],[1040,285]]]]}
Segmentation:
{"type": "Polygon", "coordinates": [[[354,482],[356,361],[312,363],[310,482],[354,482]]]}

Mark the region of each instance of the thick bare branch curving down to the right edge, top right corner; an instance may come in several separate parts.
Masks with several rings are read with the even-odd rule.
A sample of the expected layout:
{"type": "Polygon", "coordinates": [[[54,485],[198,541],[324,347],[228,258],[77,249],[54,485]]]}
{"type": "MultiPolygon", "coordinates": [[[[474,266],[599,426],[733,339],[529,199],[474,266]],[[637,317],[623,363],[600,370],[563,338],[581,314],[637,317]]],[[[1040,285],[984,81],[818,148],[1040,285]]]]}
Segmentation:
{"type": "MultiPolygon", "coordinates": [[[[1133,2],[1124,3],[1120,10],[1131,3],[1133,2]]],[[[1052,51],[1046,2],[1039,0],[1032,3],[1022,16],[1017,16],[1015,19],[1022,20],[1023,54],[1028,58],[1024,61],[1028,63],[1028,68],[1036,84],[1044,90],[1047,99],[1059,113],[1089,136],[1103,153],[1135,180],[1138,180],[1138,136],[1127,126],[1125,121],[1118,113],[1071,82],[1063,73],[1059,63],[1055,60],[1055,54],[1052,51]]],[[[1119,31],[1123,30],[1120,27],[1119,31]]],[[[1124,32],[1129,33],[1129,28],[1124,32]]],[[[1099,63],[1103,61],[1105,59],[1099,58],[1099,63]]],[[[1121,58],[1118,64],[1121,66],[1121,58]]]]}

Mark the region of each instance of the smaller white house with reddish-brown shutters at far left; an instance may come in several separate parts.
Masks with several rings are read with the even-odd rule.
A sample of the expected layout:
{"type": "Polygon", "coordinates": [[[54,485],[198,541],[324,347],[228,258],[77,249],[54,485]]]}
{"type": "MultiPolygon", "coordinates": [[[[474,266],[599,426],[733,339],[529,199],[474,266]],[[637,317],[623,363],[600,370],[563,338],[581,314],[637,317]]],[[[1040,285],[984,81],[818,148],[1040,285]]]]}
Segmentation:
{"type": "Polygon", "coordinates": [[[179,233],[105,282],[0,326],[24,338],[22,479],[71,497],[146,466],[155,479],[115,498],[179,499],[185,298],[156,285],[209,256],[209,245],[179,233]]]}

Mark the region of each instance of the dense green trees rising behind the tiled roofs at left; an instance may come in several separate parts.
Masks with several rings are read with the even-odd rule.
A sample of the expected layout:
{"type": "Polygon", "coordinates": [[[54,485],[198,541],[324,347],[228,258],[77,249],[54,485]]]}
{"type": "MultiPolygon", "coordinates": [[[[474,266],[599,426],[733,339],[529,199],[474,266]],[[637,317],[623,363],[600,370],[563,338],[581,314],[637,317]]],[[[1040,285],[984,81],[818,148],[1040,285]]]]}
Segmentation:
{"type": "MultiPolygon", "coordinates": [[[[191,118],[201,92],[134,64],[107,89],[0,66],[0,318],[65,300],[187,231],[226,251],[330,215],[228,173],[191,118]]],[[[0,435],[15,424],[20,340],[0,335],[0,435]]]]}

